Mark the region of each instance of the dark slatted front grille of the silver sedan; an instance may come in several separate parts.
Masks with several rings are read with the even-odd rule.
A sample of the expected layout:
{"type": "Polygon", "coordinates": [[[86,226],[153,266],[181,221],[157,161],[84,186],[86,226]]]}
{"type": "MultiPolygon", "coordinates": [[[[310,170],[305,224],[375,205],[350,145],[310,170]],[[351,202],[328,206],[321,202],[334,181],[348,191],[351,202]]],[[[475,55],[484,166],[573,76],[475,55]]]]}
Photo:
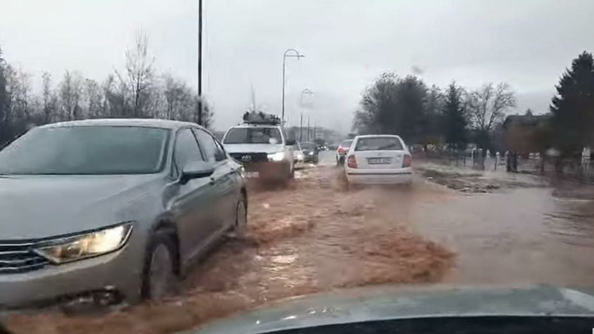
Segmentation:
{"type": "Polygon", "coordinates": [[[0,241],[0,274],[24,273],[41,269],[49,261],[32,249],[32,242],[0,241]]]}

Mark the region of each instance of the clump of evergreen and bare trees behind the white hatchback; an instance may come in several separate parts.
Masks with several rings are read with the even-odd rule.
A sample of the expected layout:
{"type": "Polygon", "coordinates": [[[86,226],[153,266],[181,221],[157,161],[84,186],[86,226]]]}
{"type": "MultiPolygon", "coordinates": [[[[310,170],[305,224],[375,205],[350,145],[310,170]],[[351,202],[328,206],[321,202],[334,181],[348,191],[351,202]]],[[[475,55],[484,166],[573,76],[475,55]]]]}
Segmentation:
{"type": "Polygon", "coordinates": [[[415,75],[381,74],[363,93],[353,130],[360,134],[399,134],[411,144],[488,149],[492,131],[516,105],[507,83],[468,90],[455,81],[441,89],[415,75]]]}

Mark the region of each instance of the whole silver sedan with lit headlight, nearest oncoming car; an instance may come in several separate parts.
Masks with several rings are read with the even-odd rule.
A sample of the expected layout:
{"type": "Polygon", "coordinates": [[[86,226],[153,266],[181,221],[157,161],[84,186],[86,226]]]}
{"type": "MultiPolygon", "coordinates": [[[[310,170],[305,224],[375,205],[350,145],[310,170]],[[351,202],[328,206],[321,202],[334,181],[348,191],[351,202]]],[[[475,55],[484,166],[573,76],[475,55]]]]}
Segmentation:
{"type": "Polygon", "coordinates": [[[0,150],[0,305],[163,297],[247,222],[243,175],[197,124],[33,128],[0,150]]]}

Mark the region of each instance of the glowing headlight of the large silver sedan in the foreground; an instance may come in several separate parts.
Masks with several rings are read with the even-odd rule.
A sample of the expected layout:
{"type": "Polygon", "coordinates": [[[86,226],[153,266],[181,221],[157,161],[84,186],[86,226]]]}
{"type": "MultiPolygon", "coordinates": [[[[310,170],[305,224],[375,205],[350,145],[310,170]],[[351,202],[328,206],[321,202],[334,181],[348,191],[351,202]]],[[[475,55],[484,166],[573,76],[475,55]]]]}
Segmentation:
{"type": "Polygon", "coordinates": [[[35,251],[56,264],[86,259],[118,250],[126,244],[131,231],[132,224],[125,223],[100,231],[52,240],[35,251]]]}

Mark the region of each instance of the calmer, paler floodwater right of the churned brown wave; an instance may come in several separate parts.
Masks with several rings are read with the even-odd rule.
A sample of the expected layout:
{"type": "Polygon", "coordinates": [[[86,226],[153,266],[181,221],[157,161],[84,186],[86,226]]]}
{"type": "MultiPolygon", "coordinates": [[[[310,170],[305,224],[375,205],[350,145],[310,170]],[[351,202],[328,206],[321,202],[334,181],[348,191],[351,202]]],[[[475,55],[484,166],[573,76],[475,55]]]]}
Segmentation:
{"type": "Polygon", "coordinates": [[[408,218],[419,234],[458,254],[444,282],[592,284],[594,201],[574,196],[592,189],[560,190],[538,177],[505,172],[481,178],[497,189],[448,190],[440,200],[415,203],[408,218]]]}

